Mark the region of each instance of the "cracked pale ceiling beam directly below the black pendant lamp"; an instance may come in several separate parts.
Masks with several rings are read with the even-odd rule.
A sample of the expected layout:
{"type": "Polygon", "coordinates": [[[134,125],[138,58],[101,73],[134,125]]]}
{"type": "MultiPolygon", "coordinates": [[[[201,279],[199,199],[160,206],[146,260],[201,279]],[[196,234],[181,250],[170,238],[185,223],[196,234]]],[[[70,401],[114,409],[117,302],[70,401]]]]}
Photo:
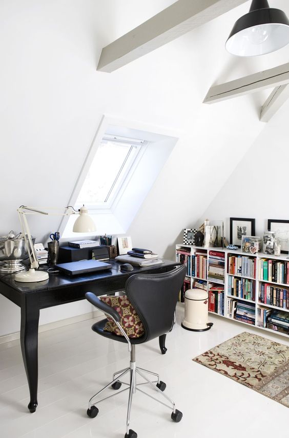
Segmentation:
{"type": "Polygon", "coordinates": [[[289,83],[289,63],[269,70],[244,76],[235,81],[211,87],[205,96],[204,104],[225,101],[244,94],[255,93],[266,88],[273,88],[289,83]]]}

